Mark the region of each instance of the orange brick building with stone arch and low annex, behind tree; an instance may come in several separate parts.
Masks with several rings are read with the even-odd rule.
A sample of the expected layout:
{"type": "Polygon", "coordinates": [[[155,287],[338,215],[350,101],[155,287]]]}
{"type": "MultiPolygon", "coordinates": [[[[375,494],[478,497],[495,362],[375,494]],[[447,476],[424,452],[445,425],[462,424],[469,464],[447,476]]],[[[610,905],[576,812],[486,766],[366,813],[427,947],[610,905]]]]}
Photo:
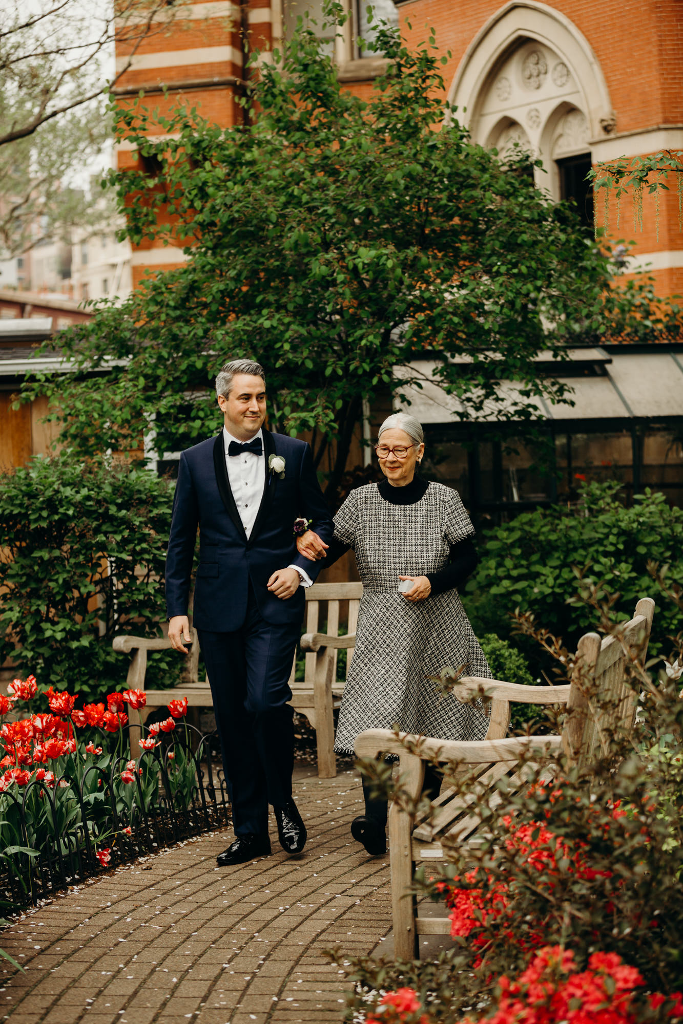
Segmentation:
{"type": "MultiPolygon", "coordinates": [[[[366,95],[385,61],[363,56],[356,43],[359,34],[367,33],[366,0],[343,2],[351,19],[344,37],[329,39],[327,45],[339,79],[366,95]]],[[[308,11],[320,19],[321,7],[322,0],[250,0],[242,7],[192,3],[166,35],[140,47],[121,81],[120,101],[144,89],[150,106],[168,109],[183,97],[217,124],[235,124],[242,113],[236,98],[243,84],[245,35],[252,48],[269,49],[291,32],[298,14],[308,11]]],[[[605,216],[602,199],[593,210],[586,185],[591,165],[683,150],[680,0],[375,0],[374,7],[401,25],[409,44],[418,44],[428,28],[435,29],[447,56],[442,74],[448,98],[473,138],[503,152],[520,142],[539,155],[545,172],[536,172],[538,184],[557,199],[573,198],[589,222],[595,216],[604,223],[605,216]]],[[[119,150],[119,166],[136,160],[129,148],[119,150]]],[[[611,207],[609,237],[634,243],[628,267],[648,264],[660,294],[683,293],[683,232],[675,185],[659,196],[658,209],[644,198],[642,228],[634,224],[630,200],[622,201],[619,211],[613,200],[611,207]]],[[[133,281],[148,267],[165,269],[182,259],[179,250],[145,243],[133,252],[133,281]]],[[[565,474],[560,494],[571,493],[576,475],[611,475],[630,494],[647,482],[661,486],[677,504],[683,501],[683,345],[671,347],[667,366],[656,368],[646,351],[638,366],[628,367],[620,358],[625,353],[616,350],[577,355],[569,382],[577,389],[574,414],[566,408],[560,414],[545,411],[565,474]],[[619,374],[627,371],[636,388],[644,385],[639,402],[629,401],[622,392],[611,400],[619,395],[619,374]],[[595,383],[598,378],[601,386],[595,383]],[[658,396],[665,385],[662,402],[658,396]]],[[[632,357],[637,354],[631,351],[632,357]]],[[[439,454],[435,472],[458,486],[475,513],[505,515],[511,504],[521,508],[556,499],[556,485],[530,472],[532,453],[522,449],[514,457],[488,441],[472,447],[476,424],[458,420],[456,411],[444,417],[429,403],[421,408],[418,397],[413,410],[423,416],[439,454]]]]}

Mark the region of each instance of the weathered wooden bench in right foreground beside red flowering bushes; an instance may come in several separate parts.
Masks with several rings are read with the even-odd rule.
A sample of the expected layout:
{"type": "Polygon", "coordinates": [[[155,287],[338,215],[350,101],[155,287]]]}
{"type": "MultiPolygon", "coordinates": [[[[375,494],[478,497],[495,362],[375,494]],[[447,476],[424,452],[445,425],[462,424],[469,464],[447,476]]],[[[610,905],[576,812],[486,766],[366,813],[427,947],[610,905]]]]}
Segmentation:
{"type": "MultiPolygon", "coordinates": [[[[605,745],[605,736],[615,728],[627,732],[633,729],[636,715],[636,693],[626,683],[626,666],[630,651],[637,650],[645,659],[654,613],[654,601],[643,598],[636,605],[634,617],[624,627],[619,637],[609,636],[602,641],[596,633],[588,633],[578,643],[576,667],[571,683],[566,686],[520,686],[498,680],[463,679],[454,692],[474,695],[483,688],[491,697],[491,720],[488,733],[480,741],[451,742],[443,739],[399,736],[384,729],[369,729],[356,740],[359,758],[377,758],[380,754],[399,755],[400,785],[408,804],[416,804],[425,779],[425,763],[431,758],[440,762],[457,764],[456,771],[474,770],[474,783],[479,794],[494,790],[503,776],[508,777],[511,792],[524,784],[525,771],[520,770],[520,758],[538,752],[564,751],[573,763],[590,765],[605,745]],[[599,694],[598,705],[603,709],[598,721],[588,713],[585,687],[599,694]],[[560,735],[520,736],[499,738],[500,729],[508,728],[510,703],[566,705],[567,715],[560,735]],[[607,710],[605,710],[607,709],[607,710]],[[411,745],[414,753],[406,749],[411,745]],[[415,745],[416,744],[416,745],[415,745]]],[[[505,735],[505,733],[503,733],[505,735]]],[[[530,767],[531,764],[529,763],[530,767]]],[[[552,765],[552,762],[551,762],[552,765]]],[[[553,769],[549,768],[549,777],[553,769]]],[[[397,801],[389,812],[389,843],[392,877],[392,908],[394,920],[394,949],[399,959],[417,955],[418,935],[448,935],[448,918],[420,918],[413,893],[413,874],[418,861],[447,859],[447,847],[453,844],[477,842],[481,822],[476,814],[478,793],[467,797],[456,794],[452,786],[444,787],[433,801],[432,816],[413,816],[397,801]]],[[[490,795],[489,806],[499,803],[497,791],[490,795]]]]}

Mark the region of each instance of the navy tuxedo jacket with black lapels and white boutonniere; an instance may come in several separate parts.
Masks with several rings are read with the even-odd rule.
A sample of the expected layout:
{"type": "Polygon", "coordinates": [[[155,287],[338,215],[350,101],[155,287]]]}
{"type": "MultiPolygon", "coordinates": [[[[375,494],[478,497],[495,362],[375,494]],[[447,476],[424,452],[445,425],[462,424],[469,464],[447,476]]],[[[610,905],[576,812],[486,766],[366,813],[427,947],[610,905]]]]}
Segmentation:
{"type": "Polygon", "coordinates": [[[193,625],[212,633],[233,632],[246,616],[249,580],[267,623],[300,622],[306,597],[298,587],[287,600],[275,597],[267,583],[276,569],[299,565],[315,580],[322,568],[296,551],[294,519],[313,520],[329,544],[334,524],[313,466],[311,449],[286,434],[264,427],[266,482],[256,521],[247,536],[228,479],[223,431],[180,455],[166,554],[166,614],[186,615],[190,577],[199,527],[199,565],[193,625]],[[268,470],[271,455],[285,460],[284,477],[268,470]]]}

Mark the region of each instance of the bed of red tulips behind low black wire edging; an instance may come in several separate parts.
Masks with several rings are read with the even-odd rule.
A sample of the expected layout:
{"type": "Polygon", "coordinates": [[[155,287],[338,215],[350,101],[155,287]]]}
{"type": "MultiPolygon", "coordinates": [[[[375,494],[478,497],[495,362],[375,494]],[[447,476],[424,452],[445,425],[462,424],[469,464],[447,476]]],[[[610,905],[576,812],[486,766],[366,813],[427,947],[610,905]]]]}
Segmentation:
{"type": "Polygon", "coordinates": [[[187,700],[142,730],[136,756],[126,708],[143,690],[76,701],[32,676],[0,695],[0,897],[14,905],[229,821],[215,737],[187,724],[187,700]]]}

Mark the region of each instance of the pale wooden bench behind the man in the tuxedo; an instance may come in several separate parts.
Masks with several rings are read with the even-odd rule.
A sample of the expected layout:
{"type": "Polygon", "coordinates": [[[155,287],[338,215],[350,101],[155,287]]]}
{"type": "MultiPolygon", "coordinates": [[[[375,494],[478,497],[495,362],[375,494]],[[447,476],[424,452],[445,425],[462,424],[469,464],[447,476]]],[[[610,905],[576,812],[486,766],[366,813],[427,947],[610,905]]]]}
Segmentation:
{"type": "MultiPolygon", "coordinates": [[[[302,637],[300,647],[306,652],[304,680],[296,680],[296,657],[292,664],[289,685],[292,691],[290,701],[294,711],[308,718],[316,730],[318,754],[318,775],[320,778],[333,778],[336,775],[336,760],[334,757],[334,723],[333,709],[338,707],[346,678],[349,674],[354,646],[356,643],[356,624],[358,622],[358,606],[363,593],[361,583],[322,583],[314,584],[306,591],[306,633],[302,637]],[[344,602],[349,603],[348,633],[339,636],[339,612],[344,602]],[[326,606],[326,608],[325,608],[326,606]],[[318,629],[325,621],[326,610],[327,632],[319,633],[318,629]],[[344,680],[336,678],[337,651],[347,650],[347,669],[344,680]]],[[[147,705],[142,711],[130,709],[130,746],[137,754],[137,740],[142,736],[142,726],[149,713],[155,708],[165,707],[169,700],[186,697],[190,708],[212,707],[211,690],[208,680],[199,680],[199,643],[194,629],[192,647],[186,656],[184,680],[182,685],[167,690],[146,690],[147,705]]],[[[126,688],[145,690],[147,658],[150,651],[168,650],[168,637],[137,637],[122,635],[114,638],[114,650],[130,655],[126,688]]]]}

